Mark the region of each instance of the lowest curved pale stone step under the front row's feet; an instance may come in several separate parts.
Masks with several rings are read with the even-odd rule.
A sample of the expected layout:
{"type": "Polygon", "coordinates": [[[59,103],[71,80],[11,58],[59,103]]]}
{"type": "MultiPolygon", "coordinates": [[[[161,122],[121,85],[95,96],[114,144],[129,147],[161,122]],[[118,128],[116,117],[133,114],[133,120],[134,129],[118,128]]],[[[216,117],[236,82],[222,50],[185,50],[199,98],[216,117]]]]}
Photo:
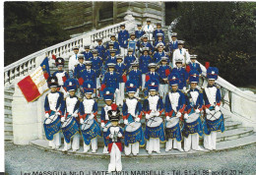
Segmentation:
{"type": "MultiPolygon", "coordinates": [[[[145,147],[141,147],[140,148],[140,153],[137,156],[133,156],[133,155],[125,155],[124,152],[122,152],[122,158],[133,158],[133,157],[152,157],[152,156],[157,156],[157,157],[164,157],[164,156],[187,156],[187,155],[194,155],[194,154],[202,154],[202,153],[207,153],[207,152],[213,152],[213,151],[221,151],[221,150],[230,150],[232,148],[236,148],[236,147],[240,147],[240,146],[247,146],[247,145],[251,145],[251,144],[255,144],[256,143],[256,133],[253,133],[250,136],[247,137],[243,137],[243,138],[239,138],[236,140],[232,140],[232,141],[224,141],[221,143],[217,144],[216,150],[207,150],[204,149],[203,151],[196,151],[196,150],[189,150],[188,152],[180,152],[176,149],[171,149],[168,152],[164,151],[164,147],[160,148],[160,154],[158,153],[153,153],[152,155],[149,155],[148,152],[146,151],[145,147]]],[[[59,149],[51,149],[48,146],[48,142],[45,140],[35,140],[31,142],[32,146],[36,146],[38,148],[42,148],[44,150],[48,150],[48,151],[53,151],[53,152],[59,152],[59,153],[64,153],[61,151],[61,149],[63,148],[63,146],[61,146],[59,149]]],[[[203,146],[201,146],[202,148],[204,148],[203,146]]],[[[102,154],[102,147],[98,147],[96,153],[92,153],[92,151],[90,150],[87,153],[83,152],[83,146],[80,146],[80,149],[76,152],[72,152],[71,150],[68,150],[67,154],[72,154],[75,156],[83,156],[83,157],[88,157],[88,156],[97,156],[97,157],[109,157],[109,154],[102,154]]]]}

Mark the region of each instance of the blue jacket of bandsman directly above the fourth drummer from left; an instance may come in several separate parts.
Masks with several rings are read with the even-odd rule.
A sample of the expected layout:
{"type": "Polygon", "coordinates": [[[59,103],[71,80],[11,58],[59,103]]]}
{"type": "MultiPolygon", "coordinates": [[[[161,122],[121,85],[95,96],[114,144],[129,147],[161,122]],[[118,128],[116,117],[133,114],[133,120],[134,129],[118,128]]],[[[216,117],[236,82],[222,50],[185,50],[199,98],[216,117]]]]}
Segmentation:
{"type": "Polygon", "coordinates": [[[113,75],[110,75],[109,72],[104,74],[104,79],[102,81],[102,84],[105,85],[105,87],[112,87],[114,90],[116,88],[119,88],[120,83],[120,75],[116,72],[113,72],[113,75]]]}

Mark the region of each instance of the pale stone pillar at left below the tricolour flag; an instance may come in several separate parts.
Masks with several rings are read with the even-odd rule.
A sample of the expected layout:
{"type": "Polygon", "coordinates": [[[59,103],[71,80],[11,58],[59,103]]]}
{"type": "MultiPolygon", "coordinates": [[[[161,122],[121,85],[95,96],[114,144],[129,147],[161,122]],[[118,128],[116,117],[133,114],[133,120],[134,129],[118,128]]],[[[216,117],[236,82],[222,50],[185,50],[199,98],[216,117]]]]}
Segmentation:
{"type": "Polygon", "coordinates": [[[37,103],[28,102],[17,86],[23,78],[16,79],[12,102],[15,145],[29,145],[32,140],[38,139],[37,103]]]}

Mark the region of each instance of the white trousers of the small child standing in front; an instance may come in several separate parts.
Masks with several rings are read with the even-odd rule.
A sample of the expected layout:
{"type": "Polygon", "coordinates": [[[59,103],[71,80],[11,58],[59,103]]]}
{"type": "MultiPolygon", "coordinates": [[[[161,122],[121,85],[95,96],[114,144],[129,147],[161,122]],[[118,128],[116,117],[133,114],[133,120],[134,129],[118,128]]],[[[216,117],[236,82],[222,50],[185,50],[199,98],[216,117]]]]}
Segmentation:
{"type": "Polygon", "coordinates": [[[122,162],[121,162],[121,151],[118,146],[113,143],[110,152],[110,163],[108,164],[108,172],[111,171],[122,171],[122,162]]]}

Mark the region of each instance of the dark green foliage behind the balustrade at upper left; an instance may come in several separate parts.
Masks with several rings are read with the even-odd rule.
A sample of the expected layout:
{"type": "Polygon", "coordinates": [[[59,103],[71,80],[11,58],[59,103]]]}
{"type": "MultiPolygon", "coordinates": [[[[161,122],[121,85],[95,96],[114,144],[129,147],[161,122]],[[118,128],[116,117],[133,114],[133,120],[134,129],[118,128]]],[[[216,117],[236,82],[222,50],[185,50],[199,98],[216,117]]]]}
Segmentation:
{"type": "Polygon", "coordinates": [[[40,49],[69,39],[53,2],[5,2],[5,66],[40,49]]]}

